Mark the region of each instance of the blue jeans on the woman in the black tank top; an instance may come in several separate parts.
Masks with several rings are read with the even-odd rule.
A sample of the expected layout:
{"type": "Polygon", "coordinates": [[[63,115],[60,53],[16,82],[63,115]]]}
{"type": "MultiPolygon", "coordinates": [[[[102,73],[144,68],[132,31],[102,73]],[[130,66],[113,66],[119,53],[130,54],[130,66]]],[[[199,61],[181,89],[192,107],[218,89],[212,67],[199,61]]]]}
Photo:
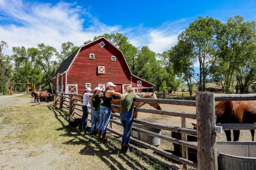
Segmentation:
{"type": "Polygon", "coordinates": [[[102,133],[107,133],[107,126],[111,115],[111,108],[102,106],[100,108],[100,124],[98,131],[102,133]]]}

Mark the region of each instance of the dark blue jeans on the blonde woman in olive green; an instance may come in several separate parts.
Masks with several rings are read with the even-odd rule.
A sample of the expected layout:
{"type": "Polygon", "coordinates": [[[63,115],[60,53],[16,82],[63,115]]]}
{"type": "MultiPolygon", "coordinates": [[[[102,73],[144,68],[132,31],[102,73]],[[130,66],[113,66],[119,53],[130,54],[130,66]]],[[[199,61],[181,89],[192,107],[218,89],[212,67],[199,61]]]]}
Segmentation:
{"type": "Polygon", "coordinates": [[[122,143],[125,145],[129,144],[130,141],[130,135],[133,125],[133,113],[120,113],[120,121],[124,127],[124,133],[122,137],[122,143]]]}

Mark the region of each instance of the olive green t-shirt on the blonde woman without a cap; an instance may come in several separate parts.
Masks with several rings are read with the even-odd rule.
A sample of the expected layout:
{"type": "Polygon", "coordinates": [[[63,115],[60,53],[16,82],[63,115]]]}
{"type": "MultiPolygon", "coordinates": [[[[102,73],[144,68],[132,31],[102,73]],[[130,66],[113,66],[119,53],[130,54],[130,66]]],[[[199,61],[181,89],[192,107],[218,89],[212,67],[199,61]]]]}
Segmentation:
{"type": "Polygon", "coordinates": [[[135,93],[128,93],[124,100],[120,101],[120,105],[121,105],[121,110],[120,113],[133,113],[133,99],[136,97],[137,95],[135,93]]]}

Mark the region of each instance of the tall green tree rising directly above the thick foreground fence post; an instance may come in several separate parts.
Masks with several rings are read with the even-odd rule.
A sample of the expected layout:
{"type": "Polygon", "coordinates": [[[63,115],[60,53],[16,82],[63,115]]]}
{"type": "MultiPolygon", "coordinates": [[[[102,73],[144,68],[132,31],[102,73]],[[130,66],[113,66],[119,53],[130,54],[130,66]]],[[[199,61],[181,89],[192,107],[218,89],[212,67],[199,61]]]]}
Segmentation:
{"type": "Polygon", "coordinates": [[[179,36],[180,41],[189,43],[191,55],[196,56],[199,62],[200,73],[196,78],[198,90],[205,91],[205,83],[212,67],[217,59],[216,52],[216,31],[218,31],[220,21],[213,18],[198,17],[179,36]]]}

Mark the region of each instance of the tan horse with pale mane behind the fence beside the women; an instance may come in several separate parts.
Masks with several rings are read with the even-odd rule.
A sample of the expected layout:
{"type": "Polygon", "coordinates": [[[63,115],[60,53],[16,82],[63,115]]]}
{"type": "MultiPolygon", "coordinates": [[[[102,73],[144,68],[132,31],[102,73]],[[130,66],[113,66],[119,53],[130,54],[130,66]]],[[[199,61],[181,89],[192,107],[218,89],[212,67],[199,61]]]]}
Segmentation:
{"type": "MultiPolygon", "coordinates": [[[[153,92],[153,93],[151,93],[151,92],[142,92],[142,93],[136,93],[136,94],[137,94],[137,96],[139,96],[141,98],[157,99],[155,92],[153,92]]],[[[134,101],[133,105],[135,106],[138,103],[139,102],[134,101]]],[[[111,104],[119,105],[120,106],[120,99],[113,99],[111,101],[111,104]]],[[[159,103],[144,103],[144,104],[149,104],[150,106],[156,108],[157,110],[162,110],[162,106],[159,103]]],[[[111,112],[112,113],[120,113],[120,109],[111,108],[111,112]]],[[[137,119],[137,117],[138,117],[138,112],[137,111],[133,111],[133,117],[134,117],[134,119],[137,119]]],[[[111,116],[110,119],[113,119],[113,116],[111,116]]],[[[110,122],[110,128],[113,129],[113,126],[112,126],[111,122],[110,122]]]]}

